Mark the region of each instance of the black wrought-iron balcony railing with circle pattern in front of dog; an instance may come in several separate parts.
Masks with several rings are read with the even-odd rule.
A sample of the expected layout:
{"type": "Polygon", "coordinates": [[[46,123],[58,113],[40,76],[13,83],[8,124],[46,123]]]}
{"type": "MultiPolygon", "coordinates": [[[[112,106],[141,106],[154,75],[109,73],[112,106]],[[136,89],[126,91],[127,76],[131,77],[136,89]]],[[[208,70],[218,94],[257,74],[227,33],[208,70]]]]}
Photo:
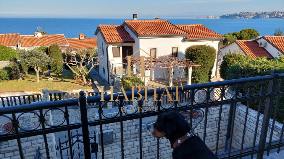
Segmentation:
{"type": "MultiPolygon", "coordinates": [[[[88,122],[87,116],[87,103],[86,97],[84,92],[80,92],[79,101],[78,99],[69,99],[69,100],[58,100],[53,102],[44,102],[44,103],[36,103],[36,104],[27,104],[25,106],[13,106],[13,107],[3,107],[0,108],[0,117],[6,117],[12,122],[12,128],[5,132],[4,134],[0,134],[0,142],[17,139],[18,148],[20,157],[24,158],[24,153],[22,150],[21,139],[24,137],[32,137],[36,135],[43,135],[44,145],[46,150],[46,157],[50,158],[49,156],[49,145],[47,141],[46,134],[54,133],[54,132],[61,132],[67,131],[68,132],[68,141],[69,145],[71,143],[71,135],[70,130],[82,128],[82,136],[83,136],[83,145],[84,145],[84,156],[86,159],[91,158],[91,149],[90,149],[90,140],[89,140],[89,127],[99,126],[100,136],[101,136],[101,143],[104,143],[103,137],[103,127],[105,124],[111,123],[120,123],[120,149],[121,149],[121,158],[125,157],[124,155],[124,133],[125,130],[123,129],[123,122],[133,119],[139,119],[139,158],[143,158],[142,155],[142,119],[145,117],[152,117],[157,116],[163,112],[168,112],[172,110],[177,110],[179,112],[188,111],[190,116],[194,116],[193,112],[196,109],[205,108],[204,119],[202,119],[203,124],[203,136],[201,135],[204,142],[206,142],[206,128],[207,128],[207,117],[209,115],[209,107],[211,106],[220,106],[220,111],[218,113],[218,122],[217,122],[217,137],[216,137],[216,149],[215,154],[220,159],[235,159],[235,158],[242,158],[245,156],[251,156],[251,158],[256,155],[257,159],[262,159],[264,153],[269,154],[270,150],[277,149],[278,152],[281,147],[284,147],[284,140],[283,140],[283,124],[282,130],[280,132],[280,137],[278,139],[272,138],[271,135],[267,136],[267,132],[273,134],[275,130],[274,124],[270,127],[269,130],[269,123],[272,120],[272,123],[275,123],[275,117],[271,117],[271,113],[274,112],[274,116],[277,115],[278,105],[280,102],[280,98],[284,96],[284,88],[283,88],[283,80],[284,74],[278,74],[274,70],[271,75],[268,76],[259,76],[259,77],[251,77],[251,78],[242,78],[242,79],[235,79],[235,80],[227,80],[227,81],[218,81],[218,82],[210,82],[210,83],[200,83],[200,84],[193,84],[193,85],[185,85],[183,88],[170,87],[162,88],[162,89],[150,89],[150,90],[143,90],[139,93],[144,97],[145,91],[147,91],[147,97],[152,98],[151,104],[156,108],[156,111],[139,111],[149,106],[146,106],[147,101],[143,101],[143,99],[135,102],[128,102],[126,97],[131,100],[132,92],[126,92],[125,96],[122,94],[113,94],[113,95],[104,95],[104,101],[101,101],[101,96],[89,96],[87,98],[87,103],[98,103],[98,116],[99,118],[93,121],[88,122]],[[258,86],[261,86],[258,89],[258,86]],[[165,90],[168,90],[170,95],[167,96],[165,90]],[[220,89],[221,93],[219,98],[212,99],[210,96],[214,89],[220,89]],[[206,98],[203,101],[196,101],[195,95],[196,92],[199,90],[206,91],[206,98]],[[239,92],[242,92],[242,95],[239,92]],[[234,95],[230,98],[225,96],[226,91],[234,91],[234,95]],[[162,103],[162,98],[170,98],[170,96],[175,100],[175,97],[178,96],[178,100],[162,103]],[[183,97],[183,98],[182,98],[183,97]],[[110,101],[111,98],[114,101],[110,101]],[[154,99],[157,99],[156,101],[154,99]],[[126,102],[127,101],[127,102],[126,102]],[[257,131],[254,133],[254,143],[251,146],[244,146],[244,140],[247,129],[247,117],[249,114],[249,107],[251,101],[257,101],[258,115],[257,115],[257,123],[255,124],[255,129],[260,129],[261,131],[258,133],[257,131]],[[225,104],[230,104],[232,108],[232,112],[236,111],[237,103],[238,102],[245,102],[246,103],[246,111],[245,111],[245,121],[243,122],[243,135],[241,137],[241,147],[232,150],[232,142],[233,142],[233,130],[234,130],[234,121],[235,121],[235,113],[230,113],[231,120],[228,121],[231,124],[230,130],[228,134],[228,150],[224,153],[218,154],[219,149],[219,138],[220,138],[220,127],[221,127],[221,117],[222,117],[222,107],[225,104]],[[112,116],[107,114],[106,106],[113,105],[113,103],[117,104],[118,107],[114,108],[117,109],[117,113],[112,116]],[[133,104],[134,103],[134,104],[133,104]],[[80,105],[80,114],[81,114],[81,123],[70,124],[69,122],[69,114],[68,114],[68,106],[72,105],[80,105]],[[133,106],[135,108],[134,112],[125,112],[123,111],[123,107],[125,106],[133,106]],[[145,105],[145,106],[144,106],[145,105]],[[59,125],[51,125],[46,122],[46,114],[52,109],[60,109],[64,112],[64,121],[62,124],[59,125]],[[260,114],[263,111],[263,122],[259,126],[260,121],[260,114]],[[34,127],[33,129],[24,129],[23,127],[19,126],[19,113],[23,112],[30,112],[34,113],[35,116],[38,116],[40,124],[38,127],[34,127]],[[12,117],[11,117],[12,116],[12,117]],[[14,133],[12,130],[14,129],[14,133]],[[21,131],[19,131],[21,129],[21,131]],[[259,141],[257,141],[256,140],[259,141]],[[266,139],[269,141],[266,142],[266,139]]],[[[134,94],[135,98],[139,98],[139,94],[134,94]]],[[[166,100],[169,101],[169,100],[166,100]]],[[[149,103],[148,103],[149,104],[149,103]]],[[[230,118],[230,117],[229,117],[230,118]]],[[[192,124],[192,119],[189,119],[189,123],[192,124]]],[[[282,119],[283,120],[283,119],[282,119]]],[[[281,121],[280,121],[281,122],[281,121]]],[[[283,122],[282,122],[283,123],[283,122]]],[[[159,138],[157,139],[157,158],[159,159],[159,138]]],[[[104,145],[104,144],[101,144],[104,145]]],[[[101,158],[105,158],[104,156],[104,146],[99,147],[101,149],[101,158]]],[[[70,148],[70,158],[73,158],[72,148],[70,148]]]]}

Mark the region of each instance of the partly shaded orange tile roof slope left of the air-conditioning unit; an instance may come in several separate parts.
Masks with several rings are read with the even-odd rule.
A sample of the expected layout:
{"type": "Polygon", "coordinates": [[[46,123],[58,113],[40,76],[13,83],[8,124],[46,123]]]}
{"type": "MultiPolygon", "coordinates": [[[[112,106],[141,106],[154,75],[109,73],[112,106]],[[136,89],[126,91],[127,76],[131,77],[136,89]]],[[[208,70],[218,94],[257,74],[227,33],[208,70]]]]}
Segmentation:
{"type": "Polygon", "coordinates": [[[247,56],[252,58],[257,58],[257,56],[272,58],[262,47],[259,47],[259,44],[254,40],[235,40],[235,42],[247,56]]]}

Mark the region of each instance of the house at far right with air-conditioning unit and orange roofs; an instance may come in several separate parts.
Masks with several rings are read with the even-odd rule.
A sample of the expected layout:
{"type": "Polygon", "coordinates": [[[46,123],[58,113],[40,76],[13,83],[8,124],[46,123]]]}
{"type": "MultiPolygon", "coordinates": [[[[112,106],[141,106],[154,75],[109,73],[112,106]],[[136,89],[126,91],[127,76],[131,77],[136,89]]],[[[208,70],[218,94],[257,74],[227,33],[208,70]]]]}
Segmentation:
{"type": "Polygon", "coordinates": [[[278,56],[278,53],[284,55],[284,36],[262,36],[255,40],[235,40],[220,49],[222,58],[229,52],[241,52],[252,58],[266,56],[272,59],[278,56]]]}

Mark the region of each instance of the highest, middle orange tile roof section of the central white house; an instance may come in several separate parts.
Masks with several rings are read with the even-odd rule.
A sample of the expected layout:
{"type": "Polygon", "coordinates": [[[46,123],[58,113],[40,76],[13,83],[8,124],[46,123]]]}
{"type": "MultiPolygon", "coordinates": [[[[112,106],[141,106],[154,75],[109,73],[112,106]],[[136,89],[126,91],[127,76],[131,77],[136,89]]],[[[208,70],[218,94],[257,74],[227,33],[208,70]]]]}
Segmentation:
{"type": "Polygon", "coordinates": [[[125,20],[138,35],[188,34],[167,20],[125,20]]]}

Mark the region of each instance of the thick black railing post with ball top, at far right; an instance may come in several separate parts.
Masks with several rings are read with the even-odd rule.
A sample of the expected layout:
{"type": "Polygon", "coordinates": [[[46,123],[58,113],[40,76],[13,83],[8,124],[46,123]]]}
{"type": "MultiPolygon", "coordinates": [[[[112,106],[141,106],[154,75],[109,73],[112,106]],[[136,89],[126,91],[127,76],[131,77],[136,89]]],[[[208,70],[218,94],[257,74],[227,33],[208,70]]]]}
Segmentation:
{"type": "Polygon", "coordinates": [[[265,148],[265,142],[266,142],[266,137],[267,137],[269,119],[270,119],[270,114],[272,111],[276,83],[278,80],[277,69],[273,69],[273,72],[270,74],[274,76],[274,78],[269,81],[267,93],[270,95],[270,97],[267,98],[266,103],[265,103],[261,133],[260,133],[260,138],[259,138],[259,148],[258,149],[260,150],[260,152],[257,153],[257,157],[256,157],[257,159],[262,159],[264,155],[264,148],[265,148]]]}

